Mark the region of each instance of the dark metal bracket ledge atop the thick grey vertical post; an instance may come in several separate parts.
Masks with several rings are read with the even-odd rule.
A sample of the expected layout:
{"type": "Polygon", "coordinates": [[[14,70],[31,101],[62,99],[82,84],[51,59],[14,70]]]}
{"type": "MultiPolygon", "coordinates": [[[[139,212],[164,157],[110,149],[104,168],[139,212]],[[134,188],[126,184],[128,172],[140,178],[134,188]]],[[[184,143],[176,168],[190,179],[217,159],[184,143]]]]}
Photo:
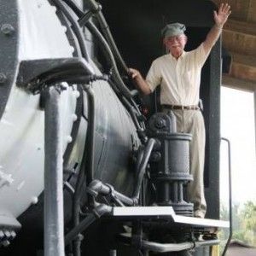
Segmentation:
{"type": "Polygon", "coordinates": [[[43,59],[21,61],[17,86],[38,94],[52,84],[89,84],[108,75],[96,75],[90,64],[82,58],[43,59]]]}

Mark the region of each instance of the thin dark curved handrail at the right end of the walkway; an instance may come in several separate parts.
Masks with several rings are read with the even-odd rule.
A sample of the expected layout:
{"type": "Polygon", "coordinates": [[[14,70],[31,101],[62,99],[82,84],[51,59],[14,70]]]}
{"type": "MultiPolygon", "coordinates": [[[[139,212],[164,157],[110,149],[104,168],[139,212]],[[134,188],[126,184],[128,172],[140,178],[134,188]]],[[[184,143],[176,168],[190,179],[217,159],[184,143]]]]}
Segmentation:
{"type": "Polygon", "coordinates": [[[232,217],[232,173],[231,173],[231,148],[230,148],[230,140],[222,137],[221,140],[225,141],[226,143],[228,143],[228,152],[229,152],[229,190],[230,190],[230,236],[228,238],[228,241],[224,247],[224,251],[222,253],[222,256],[225,255],[225,253],[227,252],[227,249],[230,245],[230,241],[232,239],[233,236],[233,217],[232,217]]]}

